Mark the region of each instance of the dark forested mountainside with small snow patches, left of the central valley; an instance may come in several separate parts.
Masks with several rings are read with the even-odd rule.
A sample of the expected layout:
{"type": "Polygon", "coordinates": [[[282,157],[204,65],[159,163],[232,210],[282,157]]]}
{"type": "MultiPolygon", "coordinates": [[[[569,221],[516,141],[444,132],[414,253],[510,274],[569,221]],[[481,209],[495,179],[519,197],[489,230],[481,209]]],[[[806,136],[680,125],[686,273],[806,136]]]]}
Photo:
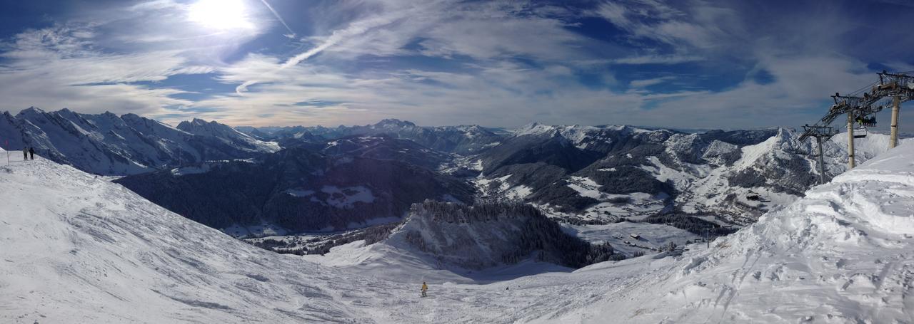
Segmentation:
{"type": "Polygon", "coordinates": [[[328,158],[305,149],[276,152],[258,163],[227,162],[208,172],[150,172],[116,181],[176,214],[214,228],[270,223],[295,232],[347,228],[374,218],[401,217],[413,203],[450,195],[473,200],[473,187],[406,162],[328,158]],[[333,204],[340,193],[325,186],[361,186],[370,202],[333,204]],[[311,191],[294,196],[289,190],[311,191]]]}

